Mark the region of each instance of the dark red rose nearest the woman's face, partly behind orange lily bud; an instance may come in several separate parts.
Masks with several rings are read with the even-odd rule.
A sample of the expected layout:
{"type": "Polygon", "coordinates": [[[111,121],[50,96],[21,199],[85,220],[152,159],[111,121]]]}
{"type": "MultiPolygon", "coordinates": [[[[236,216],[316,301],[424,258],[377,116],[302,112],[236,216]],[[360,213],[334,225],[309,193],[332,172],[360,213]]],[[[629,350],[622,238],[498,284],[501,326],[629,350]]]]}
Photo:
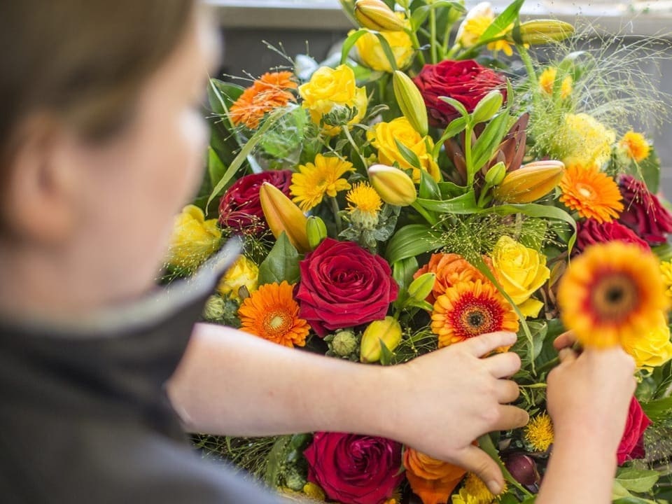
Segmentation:
{"type": "Polygon", "coordinates": [[[223,228],[246,230],[254,235],[268,229],[259,202],[259,188],[264,182],[272,183],[289,196],[292,172],[290,170],[262,172],[238,179],[219,202],[219,223],[223,228]]]}

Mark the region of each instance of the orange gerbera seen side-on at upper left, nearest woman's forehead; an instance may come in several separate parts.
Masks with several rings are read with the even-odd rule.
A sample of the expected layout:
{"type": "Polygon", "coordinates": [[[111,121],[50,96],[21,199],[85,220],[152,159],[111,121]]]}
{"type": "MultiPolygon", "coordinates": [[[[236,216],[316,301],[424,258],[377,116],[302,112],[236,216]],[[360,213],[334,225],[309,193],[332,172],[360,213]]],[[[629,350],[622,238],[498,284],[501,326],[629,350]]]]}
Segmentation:
{"type": "Polygon", "coordinates": [[[231,122],[255,130],[266,113],[295,102],[294,95],[287,91],[297,87],[291,76],[288,71],[264,73],[231,106],[231,122]]]}

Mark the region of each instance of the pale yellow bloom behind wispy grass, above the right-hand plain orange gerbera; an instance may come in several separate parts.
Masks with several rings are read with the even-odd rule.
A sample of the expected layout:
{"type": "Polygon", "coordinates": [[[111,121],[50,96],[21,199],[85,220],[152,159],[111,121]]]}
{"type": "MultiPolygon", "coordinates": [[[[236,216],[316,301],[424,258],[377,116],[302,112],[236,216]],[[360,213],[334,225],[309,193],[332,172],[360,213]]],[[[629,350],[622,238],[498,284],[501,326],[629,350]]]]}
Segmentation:
{"type": "Polygon", "coordinates": [[[611,155],[616,134],[586,113],[566,114],[552,140],[552,153],[565,165],[601,167],[611,155]]]}

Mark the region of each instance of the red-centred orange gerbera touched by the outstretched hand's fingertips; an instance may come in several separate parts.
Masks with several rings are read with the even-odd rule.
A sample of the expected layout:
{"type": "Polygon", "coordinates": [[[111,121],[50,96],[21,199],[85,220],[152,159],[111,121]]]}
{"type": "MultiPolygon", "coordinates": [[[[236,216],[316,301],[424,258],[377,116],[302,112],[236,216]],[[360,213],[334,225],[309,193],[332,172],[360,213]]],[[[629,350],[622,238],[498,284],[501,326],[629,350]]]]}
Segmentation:
{"type": "Polygon", "coordinates": [[[517,332],[518,316],[492,283],[460,282],[437,297],[431,328],[441,347],[486,332],[517,332]]]}

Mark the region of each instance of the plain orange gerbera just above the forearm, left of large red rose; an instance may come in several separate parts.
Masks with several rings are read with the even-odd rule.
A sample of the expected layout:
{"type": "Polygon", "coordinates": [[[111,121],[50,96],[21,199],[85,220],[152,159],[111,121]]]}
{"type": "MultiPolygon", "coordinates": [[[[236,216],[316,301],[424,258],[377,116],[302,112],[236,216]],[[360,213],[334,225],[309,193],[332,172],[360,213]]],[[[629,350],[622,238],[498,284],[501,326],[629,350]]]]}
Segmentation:
{"type": "Polygon", "coordinates": [[[284,346],[304,346],[310,325],[298,316],[293,288],[286,281],[260,286],[238,309],[241,329],[284,346]]]}

